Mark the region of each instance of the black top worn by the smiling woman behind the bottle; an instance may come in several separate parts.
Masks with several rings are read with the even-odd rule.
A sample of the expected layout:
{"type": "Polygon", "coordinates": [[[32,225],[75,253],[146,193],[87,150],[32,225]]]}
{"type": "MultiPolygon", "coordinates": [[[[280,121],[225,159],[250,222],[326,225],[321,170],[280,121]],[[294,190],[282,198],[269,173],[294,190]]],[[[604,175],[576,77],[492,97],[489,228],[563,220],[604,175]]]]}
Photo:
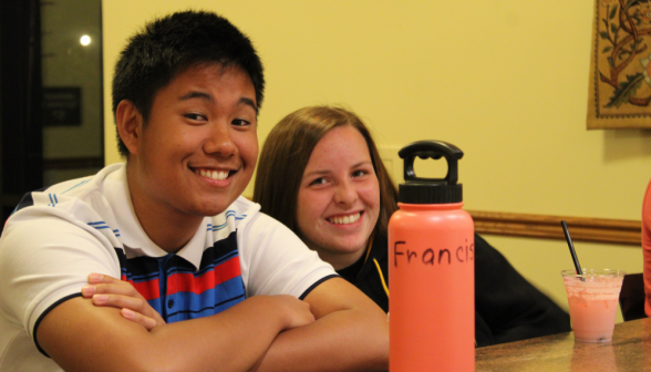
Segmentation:
{"type": "MultiPolygon", "coordinates": [[[[375,237],[369,259],[337,271],[389,311],[373,258],[389,287],[388,239],[375,237]],[[360,269],[361,268],[361,269],[360,269]]],[[[569,316],[531,286],[504,256],[475,234],[475,340],[477,347],[571,331],[569,316]]]]}

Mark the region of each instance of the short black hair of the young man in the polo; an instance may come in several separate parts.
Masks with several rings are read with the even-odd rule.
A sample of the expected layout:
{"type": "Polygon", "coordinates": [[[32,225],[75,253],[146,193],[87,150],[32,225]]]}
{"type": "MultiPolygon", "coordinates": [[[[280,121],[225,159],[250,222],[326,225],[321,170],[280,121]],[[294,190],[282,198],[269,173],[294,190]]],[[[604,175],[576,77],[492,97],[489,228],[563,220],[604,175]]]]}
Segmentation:
{"type": "MultiPolygon", "coordinates": [[[[146,123],[156,93],[179,73],[202,63],[242,69],[256,90],[258,108],[261,106],[265,76],[251,41],[220,16],[185,11],[154,20],[130,39],[115,65],[113,115],[122,100],[130,100],[146,123]]],[[[120,134],[117,149],[127,158],[120,134]]]]}

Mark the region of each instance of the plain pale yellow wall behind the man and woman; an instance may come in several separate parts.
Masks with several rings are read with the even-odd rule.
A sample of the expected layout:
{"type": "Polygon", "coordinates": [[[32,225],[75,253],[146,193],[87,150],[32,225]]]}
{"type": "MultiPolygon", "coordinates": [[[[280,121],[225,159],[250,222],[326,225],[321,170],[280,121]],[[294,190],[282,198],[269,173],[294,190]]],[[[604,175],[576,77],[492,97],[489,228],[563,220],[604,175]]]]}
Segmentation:
{"type": "MultiPolygon", "coordinates": [[[[396,179],[403,145],[436,138],[461,147],[468,209],[640,219],[651,131],[586,131],[591,0],[104,1],[106,107],[125,39],[187,8],[224,14],[260,52],[260,143],[296,108],[343,104],[374,130],[396,179]]],[[[571,260],[562,241],[487,239],[566,304],[558,272],[571,260]]],[[[586,267],[642,270],[639,248],[577,246],[586,267]]]]}

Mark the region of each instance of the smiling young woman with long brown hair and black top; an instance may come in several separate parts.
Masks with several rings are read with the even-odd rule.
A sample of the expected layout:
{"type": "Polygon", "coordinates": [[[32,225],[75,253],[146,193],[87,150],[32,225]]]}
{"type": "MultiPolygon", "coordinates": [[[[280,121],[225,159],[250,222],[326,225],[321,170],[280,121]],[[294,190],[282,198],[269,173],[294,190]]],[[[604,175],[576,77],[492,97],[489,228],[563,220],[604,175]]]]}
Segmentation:
{"type": "MultiPolygon", "coordinates": [[[[362,121],[337,107],[298,110],[260,153],[254,200],[389,311],[389,218],[397,190],[362,121]]],[[[478,347],[570,331],[569,316],[475,235],[478,347]]]]}

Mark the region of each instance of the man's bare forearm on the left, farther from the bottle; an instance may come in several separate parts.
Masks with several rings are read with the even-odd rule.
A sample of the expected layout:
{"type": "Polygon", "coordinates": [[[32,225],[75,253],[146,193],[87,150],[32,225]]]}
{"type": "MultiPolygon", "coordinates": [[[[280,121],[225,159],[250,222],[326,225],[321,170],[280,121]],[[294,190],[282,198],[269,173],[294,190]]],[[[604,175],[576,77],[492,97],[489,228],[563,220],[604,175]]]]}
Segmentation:
{"type": "Polygon", "coordinates": [[[43,319],[38,339],[66,371],[247,371],[287,328],[288,311],[275,301],[254,297],[219,314],[147,332],[118,309],[75,298],[43,319]]]}

